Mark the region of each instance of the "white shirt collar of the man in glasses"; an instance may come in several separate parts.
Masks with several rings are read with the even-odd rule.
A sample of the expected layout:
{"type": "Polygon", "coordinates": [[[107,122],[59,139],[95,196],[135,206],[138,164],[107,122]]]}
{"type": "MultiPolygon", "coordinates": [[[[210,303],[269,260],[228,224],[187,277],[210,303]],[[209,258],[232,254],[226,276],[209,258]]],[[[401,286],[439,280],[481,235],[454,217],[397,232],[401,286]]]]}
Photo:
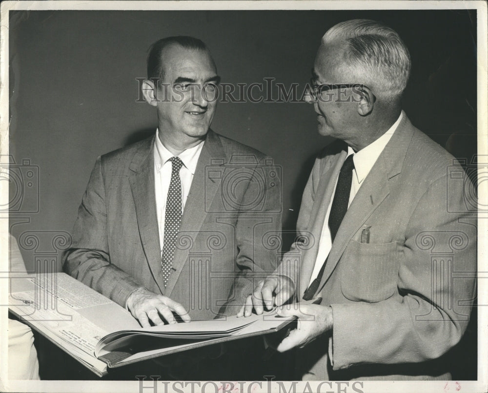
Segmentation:
{"type": "Polygon", "coordinates": [[[369,173],[374,163],[380,156],[381,152],[385,148],[391,136],[397,129],[398,124],[400,124],[402,117],[403,117],[403,111],[400,113],[400,116],[398,117],[397,121],[393,123],[393,125],[381,137],[379,137],[373,143],[362,148],[357,153],[354,153],[354,150],[352,149],[351,146],[347,147],[347,155],[349,156],[350,154],[354,154],[353,157],[354,169],[359,184],[361,184],[363,180],[366,178],[367,174],[369,173]]]}

